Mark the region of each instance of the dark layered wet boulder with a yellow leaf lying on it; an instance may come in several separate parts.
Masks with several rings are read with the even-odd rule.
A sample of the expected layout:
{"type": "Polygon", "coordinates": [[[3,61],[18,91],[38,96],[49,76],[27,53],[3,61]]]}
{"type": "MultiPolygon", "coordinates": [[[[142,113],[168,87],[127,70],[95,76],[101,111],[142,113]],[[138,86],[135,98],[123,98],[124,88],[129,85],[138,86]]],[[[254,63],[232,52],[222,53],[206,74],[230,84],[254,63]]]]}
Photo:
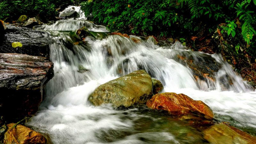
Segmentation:
{"type": "Polygon", "coordinates": [[[7,26],[0,41],[0,53],[21,53],[49,57],[47,34],[40,30],[7,26]],[[20,42],[22,47],[12,47],[13,42],[20,42]]]}

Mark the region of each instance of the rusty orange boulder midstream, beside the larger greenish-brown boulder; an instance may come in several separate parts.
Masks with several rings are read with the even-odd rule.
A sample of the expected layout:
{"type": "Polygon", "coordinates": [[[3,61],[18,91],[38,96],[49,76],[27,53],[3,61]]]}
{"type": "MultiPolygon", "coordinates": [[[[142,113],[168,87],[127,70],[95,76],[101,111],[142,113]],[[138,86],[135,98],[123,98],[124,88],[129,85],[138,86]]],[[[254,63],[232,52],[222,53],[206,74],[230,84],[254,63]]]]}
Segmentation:
{"type": "Polygon", "coordinates": [[[213,117],[212,109],[200,100],[193,100],[185,94],[165,92],[154,95],[147,101],[148,108],[167,110],[173,115],[197,113],[206,118],[213,117]]]}

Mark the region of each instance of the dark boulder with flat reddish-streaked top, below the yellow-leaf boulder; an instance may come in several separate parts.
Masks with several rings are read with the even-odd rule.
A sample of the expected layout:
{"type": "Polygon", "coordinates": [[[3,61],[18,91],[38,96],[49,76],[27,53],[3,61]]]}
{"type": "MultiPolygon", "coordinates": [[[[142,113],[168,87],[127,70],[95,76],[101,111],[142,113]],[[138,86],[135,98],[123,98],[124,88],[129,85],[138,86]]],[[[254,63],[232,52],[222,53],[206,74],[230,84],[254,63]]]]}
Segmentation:
{"type": "Polygon", "coordinates": [[[44,85],[53,76],[53,63],[47,58],[0,53],[0,116],[12,122],[35,114],[44,85]]]}

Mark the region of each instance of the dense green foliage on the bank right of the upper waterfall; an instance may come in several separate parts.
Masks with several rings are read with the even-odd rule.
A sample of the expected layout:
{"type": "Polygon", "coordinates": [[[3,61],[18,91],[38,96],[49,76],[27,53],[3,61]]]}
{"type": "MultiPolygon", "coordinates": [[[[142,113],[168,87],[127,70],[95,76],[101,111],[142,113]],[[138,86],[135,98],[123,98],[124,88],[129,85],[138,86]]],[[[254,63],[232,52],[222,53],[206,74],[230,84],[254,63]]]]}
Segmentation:
{"type": "Polygon", "coordinates": [[[247,44],[255,35],[255,4],[256,0],[89,0],[81,3],[88,20],[106,25],[112,31],[176,36],[193,34],[201,28],[196,23],[206,21],[211,26],[215,24],[215,28],[226,23],[222,32],[232,37],[240,33],[247,44]],[[237,18],[242,27],[237,26],[237,18]]]}

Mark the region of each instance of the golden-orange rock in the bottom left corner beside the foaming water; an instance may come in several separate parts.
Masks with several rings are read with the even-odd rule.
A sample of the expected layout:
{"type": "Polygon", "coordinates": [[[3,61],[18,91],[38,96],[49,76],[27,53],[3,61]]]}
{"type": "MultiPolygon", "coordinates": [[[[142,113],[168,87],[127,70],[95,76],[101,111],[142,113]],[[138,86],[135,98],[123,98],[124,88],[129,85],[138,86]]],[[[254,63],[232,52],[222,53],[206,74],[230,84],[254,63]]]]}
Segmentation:
{"type": "Polygon", "coordinates": [[[13,126],[14,123],[7,124],[8,130],[4,133],[5,144],[46,144],[46,138],[42,134],[20,124],[13,126]]]}

